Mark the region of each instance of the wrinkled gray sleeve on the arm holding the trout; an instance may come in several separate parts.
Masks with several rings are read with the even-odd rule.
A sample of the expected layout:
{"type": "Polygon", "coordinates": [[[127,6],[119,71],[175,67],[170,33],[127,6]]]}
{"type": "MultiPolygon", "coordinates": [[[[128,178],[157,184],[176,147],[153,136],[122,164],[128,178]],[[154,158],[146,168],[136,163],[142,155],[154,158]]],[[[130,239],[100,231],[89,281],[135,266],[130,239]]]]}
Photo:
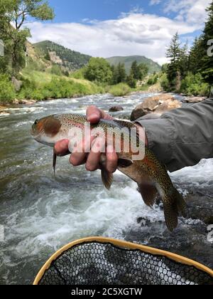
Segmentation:
{"type": "Polygon", "coordinates": [[[171,110],[160,119],[136,122],[145,128],[148,147],[170,172],[213,157],[213,98],[171,110]]]}

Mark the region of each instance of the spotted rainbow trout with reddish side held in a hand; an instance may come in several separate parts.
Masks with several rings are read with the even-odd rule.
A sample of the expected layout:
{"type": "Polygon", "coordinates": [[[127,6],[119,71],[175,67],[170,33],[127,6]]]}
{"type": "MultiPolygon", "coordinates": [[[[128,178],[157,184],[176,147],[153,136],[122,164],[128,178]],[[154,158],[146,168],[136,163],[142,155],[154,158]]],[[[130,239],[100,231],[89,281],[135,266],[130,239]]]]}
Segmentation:
{"type": "MultiPolygon", "coordinates": [[[[87,118],[84,115],[74,113],[50,115],[40,120],[35,120],[31,129],[31,135],[37,142],[54,149],[56,142],[68,139],[69,130],[72,128],[83,130],[85,122],[87,122],[87,118]]],[[[133,152],[131,150],[129,152],[124,151],[125,135],[128,134],[128,142],[131,142],[129,132],[136,128],[136,125],[125,120],[102,119],[96,125],[90,126],[91,130],[95,127],[101,127],[105,134],[109,132],[107,130],[124,129],[124,135],[121,136],[123,142],[121,152],[117,152],[119,158],[118,169],[138,184],[138,191],[141,193],[142,199],[147,206],[153,206],[157,195],[160,195],[163,201],[165,224],[169,231],[173,231],[178,226],[178,216],[186,216],[185,200],[178,190],[175,189],[165,165],[144,145],[143,140],[139,138],[137,133],[135,135],[136,143],[139,149],[143,148],[144,157],[142,159],[132,159],[133,152]]],[[[56,154],[55,150],[53,150],[54,172],[55,164],[56,154]]],[[[113,174],[107,172],[106,156],[104,154],[101,155],[99,166],[102,172],[102,182],[107,189],[110,189],[113,182],[113,174]]]]}

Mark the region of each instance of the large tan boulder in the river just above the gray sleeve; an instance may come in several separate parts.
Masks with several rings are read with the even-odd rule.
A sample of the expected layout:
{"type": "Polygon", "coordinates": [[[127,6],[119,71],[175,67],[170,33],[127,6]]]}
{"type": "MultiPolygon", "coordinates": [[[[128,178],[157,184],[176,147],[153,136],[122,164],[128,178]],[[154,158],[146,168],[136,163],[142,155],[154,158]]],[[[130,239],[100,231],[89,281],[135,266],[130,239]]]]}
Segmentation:
{"type": "Polygon", "coordinates": [[[139,117],[143,117],[148,113],[155,112],[158,115],[162,115],[164,112],[180,107],[181,103],[178,100],[175,100],[173,95],[155,95],[154,97],[144,100],[143,103],[139,104],[133,110],[133,112],[131,113],[131,121],[137,120],[139,117]]]}

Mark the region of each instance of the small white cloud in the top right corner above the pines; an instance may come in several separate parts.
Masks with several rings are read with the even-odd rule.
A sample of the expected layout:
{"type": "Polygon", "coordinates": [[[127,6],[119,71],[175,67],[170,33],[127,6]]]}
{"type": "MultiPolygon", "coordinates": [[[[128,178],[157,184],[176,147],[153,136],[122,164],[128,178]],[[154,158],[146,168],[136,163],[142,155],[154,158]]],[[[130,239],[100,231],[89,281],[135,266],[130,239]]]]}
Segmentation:
{"type": "Polygon", "coordinates": [[[202,28],[207,16],[205,10],[211,3],[211,0],[169,0],[165,4],[165,13],[178,13],[176,17],[179,21],[200,25],[202,28]]]}

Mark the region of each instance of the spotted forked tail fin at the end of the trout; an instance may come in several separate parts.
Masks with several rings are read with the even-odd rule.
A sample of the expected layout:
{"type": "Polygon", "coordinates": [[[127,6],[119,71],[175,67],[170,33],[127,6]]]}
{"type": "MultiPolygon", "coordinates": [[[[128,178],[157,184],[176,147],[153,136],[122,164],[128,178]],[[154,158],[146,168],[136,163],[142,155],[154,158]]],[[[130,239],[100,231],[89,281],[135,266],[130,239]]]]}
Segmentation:
{"type": "Polygon", "coordinates": [[[169,195],[162,196],[165,223],[169,231],[178,226],[178,214],[185,215],[186,204],[182,195],[174,187],[170,189],[169,195]]]}

